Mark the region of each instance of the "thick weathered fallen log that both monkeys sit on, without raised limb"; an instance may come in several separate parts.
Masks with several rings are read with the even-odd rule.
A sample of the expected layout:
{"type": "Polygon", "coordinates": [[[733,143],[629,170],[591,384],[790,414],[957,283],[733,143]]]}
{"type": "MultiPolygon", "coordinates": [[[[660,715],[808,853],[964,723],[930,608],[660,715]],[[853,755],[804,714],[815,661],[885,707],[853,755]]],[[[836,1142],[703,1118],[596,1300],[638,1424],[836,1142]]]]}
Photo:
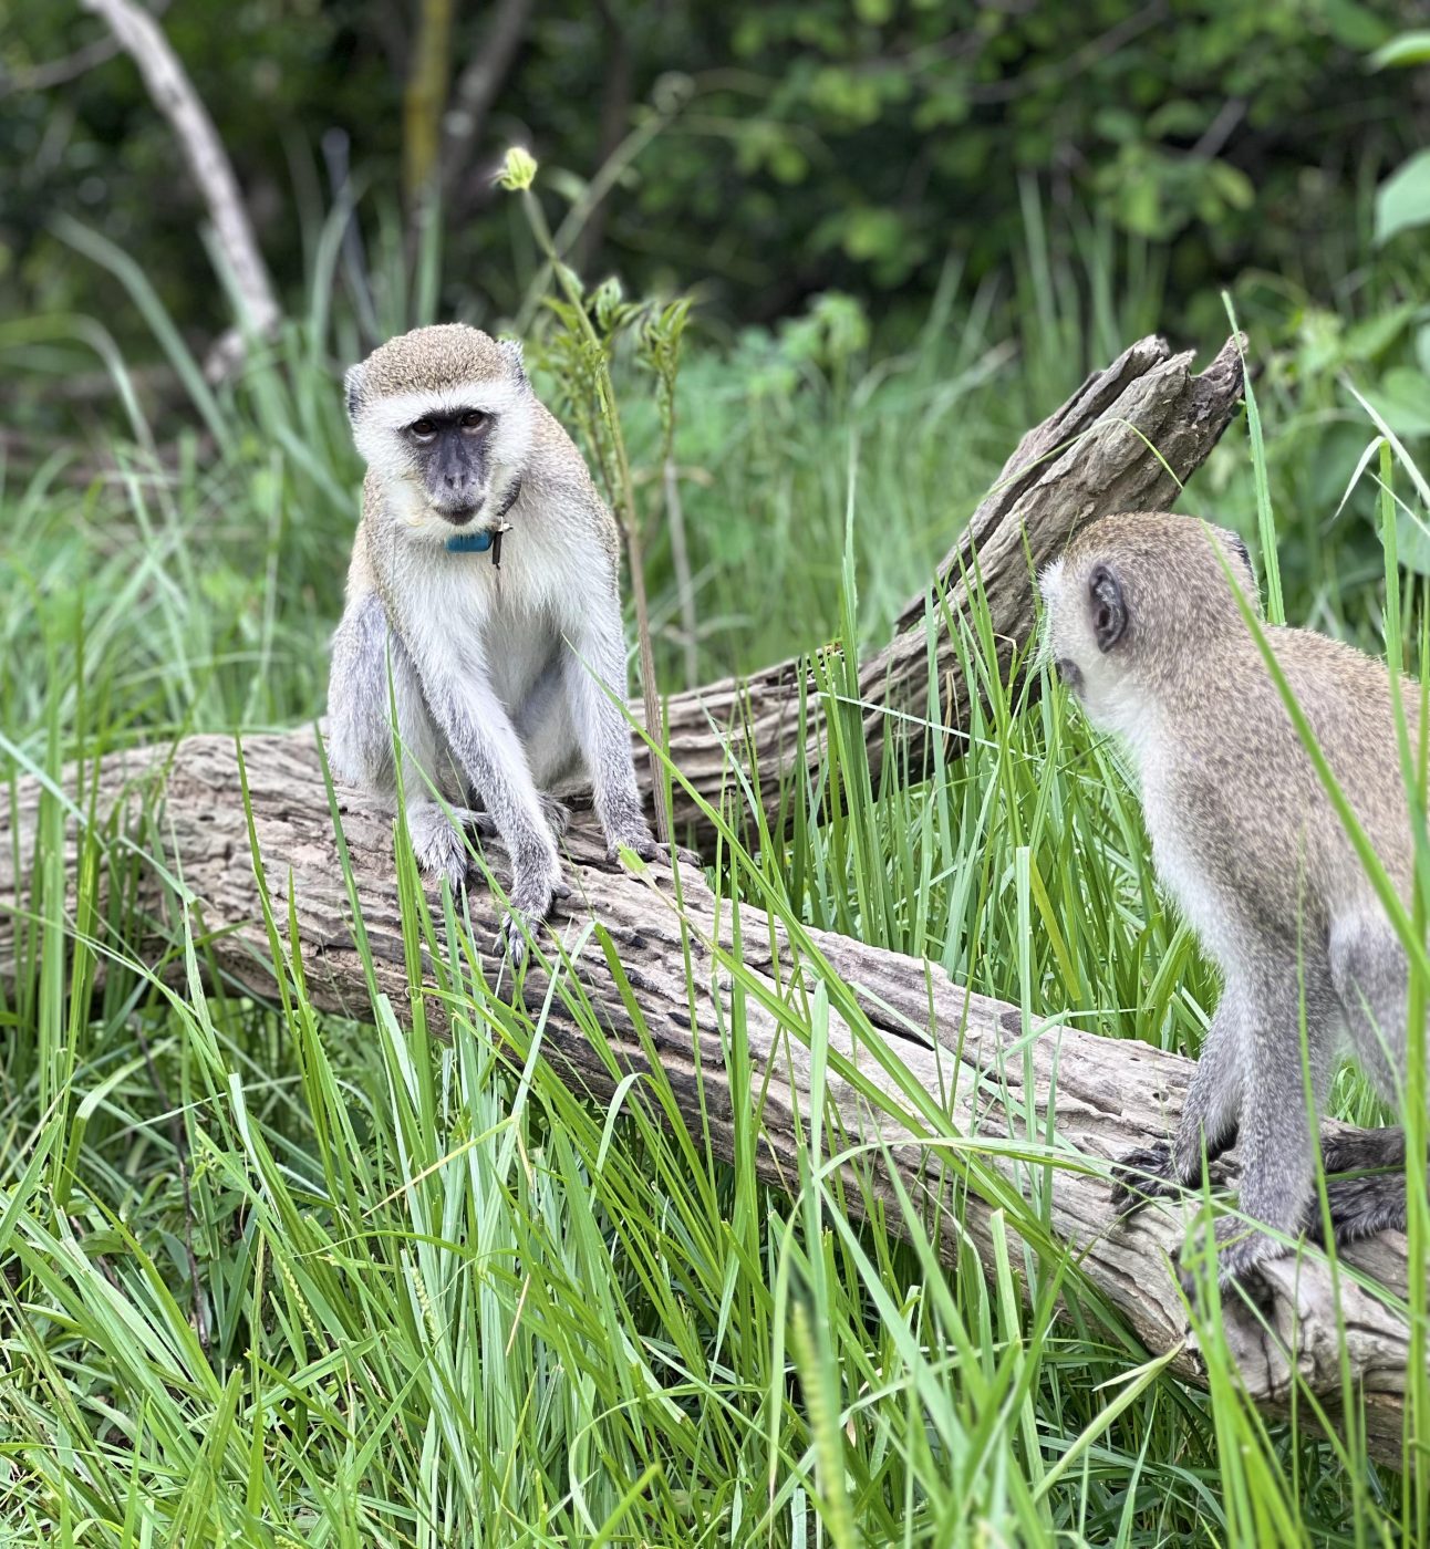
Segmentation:
{"type": "MultiPolygon", "coordinates": [[[[270,900],[279,920],[287,920],[293,900],[308,994],[322,1010],[370,1019],[370,990],[353,945],[316,734],[251,737],[243,744],[243,765],[270,900]]],[[[166,835],[164,864],[198,900],[197,919],[217,971],[260,998],[273,996],[273,957],[234,742],[195,736],[172,750],[115,756],[105,759],[96,785],[68,784],[67,790],[87,805],[93,793],[96,823],[143,801],[156,818],[149,832],[166,835]]],[[[0,823],[0,976],[6,979],[14,968],[17,919],[11,857],[33,853],[40,795],[37,779],[22,779],[15,810],[0,823]]],[[[392,816],[345,790],[339,790],[338,810],[375,988],[411,1019],[414,991],[394,878],[392,816]]],[[[493,850],[493,864],[504,875],[505,858],[493,850]]],[[[607,861],[600,833],[584,824],[567,835],[567,875],[573,895],[544,937],[550,968],[533,962],[524,991],[528,1007],[541,1005],[548,974],[555,974],[544,1055],[578,1090],[607,1101],[629,1070],[668,1081],[697,1143],[708,1143],[722,1160],[734,1159],[736,1111],[753,1111],[759,1174],[792,1190],[798,1156],[809,1145],[813,1075],[807,1004],[823,981],[834,1007],[826,1038],[824,1129],[838,1134],[838,1145],[866,1143],[861,1157],[841,1168],[851,1210],[863,1208],[863,1185],[885,1208],[891,1228],[906,1233],[894,1169],[944,1258],[956,1261],[962,1230],[992,1267],[998,1199],[961,1188],[956,1163],[944,1149],[951,1139],[973,1139],[982,1146],[981,1165],[996,1169],[1007,1188],[1044,1179],[1040,1187],[1052,1245],[1074,1255],[1086,1279],[1150,1351],[1176,1351],[1173,1369],[1191,1382],[1201,1379],[1171,1273],[1190,1211],[1150,1207],[1134,1222],[1119,1225],[1106,1182],[1109,1159],[1176,1125],[1191,1061],[1071,1027],[1026,1029],[1015,1007],[968,993],[930,963],[820,931],[795,942],[748,905],[736,956],[728,900],[717,908],[699,872],[682,869],[677,900],[669,874],[623,872],[607,861]],[[592,920],[600,922],[618,960],[618,976],[606,942],[589,929],[592,920]],[[742,1018],[731,1015],[728,994],[734,963],[742,963],[742,1018]],[[600,1019],[604,1047],[592,1042],[578,1005],[600,1019]],[[731,1036],[742,1036],[748,1056],[748,1087],[741,1090],[733,1089],[722,1053],[731,1036]],[[1049,1134],[1052,1149],[1044,1139],[1049,1134]],[[998,1149],[1009,1137],[1047,1160],[1024,1163],[1019,1171],[1018,1162],[998,1149]]],[[[130,917],[161,922],[172,902],[153,867],[138,878],[130,917]]],[[[473,942],[488,982],[496,984],[504,970],[490,943],[499,902],[473,888],[468,908],[473,942]]],[[[152,960],[167,940],[158,925],[153,940],[130,940],[125,948],[152,960]]],[[[417,991],[426,1024],[437,1032],[446,1029],[451,1004],[440,979],[432,963],[417,991]]],[[[1235,1166],[1218,1176],[1235,1177],[1235,1166]]],[[[1303,1414],[1308,1389],[1334,1414],[1343,1338],[1345,1360],[1363,1399],[1368,1444],[1376,1456],[1397,1465],[1408,1327],[1385,1300],[1346,1275],[1346,1264],[1404,1298],[1407,1244],[1399,1233],[1384,1233],[1342,1255],[1339,1312],[1325,1259],[1308,1252],[1300,1264],[1286,1259],[1272,1267],[1277,1295],[1269,1326],[1229,1300],[1225,1334],[1250,1399],[1275,1414],[1286,1411],[1297,1380],[1303,1383],[1303,1414]]]]}

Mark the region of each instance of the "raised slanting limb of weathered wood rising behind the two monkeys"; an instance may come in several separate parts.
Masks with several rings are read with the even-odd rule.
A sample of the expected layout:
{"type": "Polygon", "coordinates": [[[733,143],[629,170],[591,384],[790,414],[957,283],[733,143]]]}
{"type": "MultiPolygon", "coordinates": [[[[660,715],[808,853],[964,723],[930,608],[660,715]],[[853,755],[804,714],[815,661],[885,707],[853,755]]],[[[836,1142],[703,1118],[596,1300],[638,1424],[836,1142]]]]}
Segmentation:
{"type": "MultiPolygon", "coordinates": [[[[926,714],[930,643],[925,609],[934,618],[967,607],[971,587],[985,598],[999,669],[1033,629],[1032,575],[1091,520],[1109,511],[1165,510],[1221,438],[1241,401],[1241,358],[1229,339],[1199,376],[1191,355],[1173,355],[1167,342],[1146,338],[1095,372],[1061,409],[1029,431],[1004,465],[993,493],[979,505],[939,565],[937,579],[903,610],[894,638],[860,665],[858,686],[865,737],[877,779],[891,739],[886,726],[908,726],[897,714],[926,714]]],[[[937,682],[950,736],[967,725],[970,692],[956,643],[937,632],[937,682]]],[[[640,705],[631,713],[641,717],[640,705]]],[[[779,824],[781,788],[790,774],[815,768],[823,756],[824,713],[807,657],[765,668],[748,678],[724,678],[666,702],[671,759],[682,776],[716,810],[739,792],[744,768],[758,785],[772,829],[779,824]],[[799,734],[799,685],[806,683],[806,734],[799,734]],[[724,736],[713,736],[711,726],[724,736]],[[753,750],[753,757],[750,750],[753,750]]],[[[906,736],[906,733],[899,733],[906,736]]],[[[954,747],[953,751],[957,751],[954,747]]],[[[908,748],[913,768],[926,767],[926,740],[908,748]]],[[[645,778],[645,759],[637,767],[645,778]]],[[[691,833],[697,849],[713,838],[694,798],[674,792],[677,833],[691,833]]]]}

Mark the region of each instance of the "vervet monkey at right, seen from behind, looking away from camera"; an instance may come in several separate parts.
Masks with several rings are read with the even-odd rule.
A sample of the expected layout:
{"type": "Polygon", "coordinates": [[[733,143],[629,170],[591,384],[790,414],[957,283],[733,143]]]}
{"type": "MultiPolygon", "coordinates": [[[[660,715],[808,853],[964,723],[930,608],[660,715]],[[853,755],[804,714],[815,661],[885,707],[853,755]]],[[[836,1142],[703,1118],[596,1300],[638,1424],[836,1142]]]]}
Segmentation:
{"type": "MultiPolygon", "coordinates": [[[[1046,657],[1094,726],[1126,744],[1157,877],[1225,987],[1171,1145],[1134,1151],[1114,1200],[1170,1194],[1233,1143],[1241,1218],[1320,1235],[1311,1087],[1346,1042],[1387,1100],[1405,1073],[1407,957],[1297,734],[1233,593],[1255,607],[1246,545],[1195,517],[1109,516],[1041,578],[1046,657]]],[[[1264,626],[1340,788],[1402,900],[1413,846],[1390,669],[1303,629],[1264,626]]],[[[1419,689],[1405,685],[1415,717],[1419,689]]],[[[1411,720],[1411,744],[1418,730],[1411,720]]],[[[1399,1129],[1328,1142],[1328,1173],[1404,1166],[1399,1129]]],[[[1328,1185],[1339,1242],[1405,1222],[1404,1173],[1328,1185]]],[[[1218,1222],[1222,1284],[1286,1252],[1218,1222]]],[[[1190,1276],[1184,1276],[1190,1286],[1190,1276]]]]}

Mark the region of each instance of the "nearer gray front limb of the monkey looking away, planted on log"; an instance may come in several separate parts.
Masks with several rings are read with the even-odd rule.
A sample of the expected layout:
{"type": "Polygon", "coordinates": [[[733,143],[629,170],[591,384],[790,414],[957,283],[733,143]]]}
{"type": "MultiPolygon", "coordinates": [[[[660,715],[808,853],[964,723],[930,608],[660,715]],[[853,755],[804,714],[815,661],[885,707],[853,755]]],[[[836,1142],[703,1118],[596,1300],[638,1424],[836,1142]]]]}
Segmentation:
{"type": "MultiPolygon", "coordinates": [[[[1249,943],[1255,957],[1255,946],[1249,943]]],[[[1243,1081],[1241,1193],[1238,1213],[1216,1222],[1221,1284],[1253,1281],[1258,1266],[1287,1252],[1283,1239],[1300,1236],[1315,1188],[1311,1115],[1306,1112],[1306,1070],[1301,1063],[1301,999],[1305,993],[1306,1058],[1311,1092],[1320,1101],[1340,1032],[1340,1005],[1323,963],[1284,962],[1284,943],[1269,942],[1249,984],[1250,1038],[1243,1081]],[[1275,957],[1283,965],[1270,967],[1275,957]],[[1266,1228],[1270,1228],[1269,1231],[1266,1228]],[[1274,1235],[1275,1233],[1275,1235],[1274,1235]]],[[[1195,1278],[1184,1272],[1190,1292],[1195,1278]]]]}

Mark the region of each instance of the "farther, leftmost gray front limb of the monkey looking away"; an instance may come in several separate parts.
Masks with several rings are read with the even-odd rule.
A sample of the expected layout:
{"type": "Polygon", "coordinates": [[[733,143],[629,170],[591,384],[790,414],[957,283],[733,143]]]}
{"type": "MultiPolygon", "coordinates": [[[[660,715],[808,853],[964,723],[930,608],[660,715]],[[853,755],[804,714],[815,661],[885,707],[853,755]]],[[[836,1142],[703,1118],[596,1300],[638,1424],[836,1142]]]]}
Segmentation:
{"type": "Polygon", "coordinates": [[[1207,1029],[1171,1145],[1164,1140],[1129,1151],[1112,1168],[1112,1207],[1119,1214],[1129,1216],[1150,1199],[1179,1194],[1199,1183],[1202,1156],[1215,1162],[1236,1143],[1249,1038],[1247,996],[1229,979],[1207,1029]]]}

